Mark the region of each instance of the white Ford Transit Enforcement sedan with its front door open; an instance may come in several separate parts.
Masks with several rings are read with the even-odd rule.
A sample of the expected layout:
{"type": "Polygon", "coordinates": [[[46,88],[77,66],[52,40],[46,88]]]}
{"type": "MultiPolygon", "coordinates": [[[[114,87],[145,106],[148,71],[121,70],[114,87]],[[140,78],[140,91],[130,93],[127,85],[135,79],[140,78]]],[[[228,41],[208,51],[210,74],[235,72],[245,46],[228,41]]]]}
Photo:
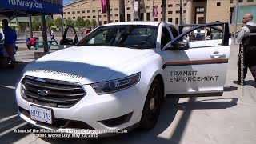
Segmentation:
{"type": "Polygon", "coordinates": [[[67,133],[150,130],[166,95],[222,95],[230,56],[228,23],[187,26],[99,26],[75,46],[24,68],[16,87],[18,114],[34,126],[67,133]],[[210,40],[186,38],[206,27],[210,40]],[[222,39],[213,38],[216,30],[222,39]]]}

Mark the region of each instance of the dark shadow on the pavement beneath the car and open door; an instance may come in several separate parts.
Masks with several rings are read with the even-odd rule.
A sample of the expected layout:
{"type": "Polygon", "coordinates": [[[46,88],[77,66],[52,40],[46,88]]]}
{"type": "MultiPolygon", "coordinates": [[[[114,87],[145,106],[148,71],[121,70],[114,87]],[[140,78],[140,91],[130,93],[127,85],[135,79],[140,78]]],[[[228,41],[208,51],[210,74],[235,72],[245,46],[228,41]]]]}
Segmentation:
{"type": "Polygon", "coordinates": [[[161,114],[157,125],[153,130],[142,131],[133,130],[128,134],[121,134],[110,138],[42,138],[50,143],[180,143],[185,133],[186,125],[190,120],[193,110],[200,109],[226,109],[236,106],[238,98],[216,98],[196,101],[196,98],[190,98],[188,102],[178,103],[179,98],[168,98],[163,103],[161,114]],[[218,102],[214,102],[218,101],[218,102]],[[221,102],[219,102],[221,101],[221,102]],[[223,102],[222,102],[223,101],[223,102]],[[182,112],[182,117],[177,121],[178,124],[172,124],[176,114],[182,112]],[[168,138],[162,138],[161,134],[168,129],[173,133],[168,138]]]}

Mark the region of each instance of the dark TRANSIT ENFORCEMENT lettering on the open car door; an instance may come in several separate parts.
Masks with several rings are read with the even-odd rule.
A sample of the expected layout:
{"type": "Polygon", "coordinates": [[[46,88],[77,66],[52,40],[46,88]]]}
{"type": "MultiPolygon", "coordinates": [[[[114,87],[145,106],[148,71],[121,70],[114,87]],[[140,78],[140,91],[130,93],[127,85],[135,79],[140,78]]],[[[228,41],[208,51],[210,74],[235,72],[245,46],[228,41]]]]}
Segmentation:
{"type": "Polygon", "coordinates": [[[218,75],[198,76],[198,70],[170,71],[170,82],[218,81],[218,75]]]}

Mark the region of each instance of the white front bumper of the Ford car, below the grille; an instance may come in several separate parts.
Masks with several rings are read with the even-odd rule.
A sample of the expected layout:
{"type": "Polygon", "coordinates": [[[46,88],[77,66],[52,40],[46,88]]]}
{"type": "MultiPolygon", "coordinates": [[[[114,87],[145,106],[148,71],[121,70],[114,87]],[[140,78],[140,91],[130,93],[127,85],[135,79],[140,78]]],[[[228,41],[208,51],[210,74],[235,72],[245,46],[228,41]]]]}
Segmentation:
{"type": "Polygon", "coordinates": [[[85,85],[86,95],[78,103],[70,108],[56,108],[26,101],[21,96],[20,87],[21,83],[18,83],[16,99],[20,117],[34,126],[65,133],[90,134],[92,131],[88,130],[98,134],[115,133],[134,126],[141,119],[146,99],[146,85],[140,82],[126,90],[104,95],[96,94],[90,85],[85,85]],[[30,105],[50,108],[55,122],[46,124],[30,119],[30,105]]]}

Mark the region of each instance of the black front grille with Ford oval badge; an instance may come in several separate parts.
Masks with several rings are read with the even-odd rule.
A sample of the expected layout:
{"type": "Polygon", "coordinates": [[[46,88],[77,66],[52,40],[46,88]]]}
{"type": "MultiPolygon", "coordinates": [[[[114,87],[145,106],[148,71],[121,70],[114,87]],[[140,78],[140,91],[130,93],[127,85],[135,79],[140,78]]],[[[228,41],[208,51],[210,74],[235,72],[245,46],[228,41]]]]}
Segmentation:
{"type": "Polygon", "coordinates": [[[86,91],[77,82],[65,82],[26,76],[22,79],[22,98],[42,106],[74,106],[86,91]]]}

